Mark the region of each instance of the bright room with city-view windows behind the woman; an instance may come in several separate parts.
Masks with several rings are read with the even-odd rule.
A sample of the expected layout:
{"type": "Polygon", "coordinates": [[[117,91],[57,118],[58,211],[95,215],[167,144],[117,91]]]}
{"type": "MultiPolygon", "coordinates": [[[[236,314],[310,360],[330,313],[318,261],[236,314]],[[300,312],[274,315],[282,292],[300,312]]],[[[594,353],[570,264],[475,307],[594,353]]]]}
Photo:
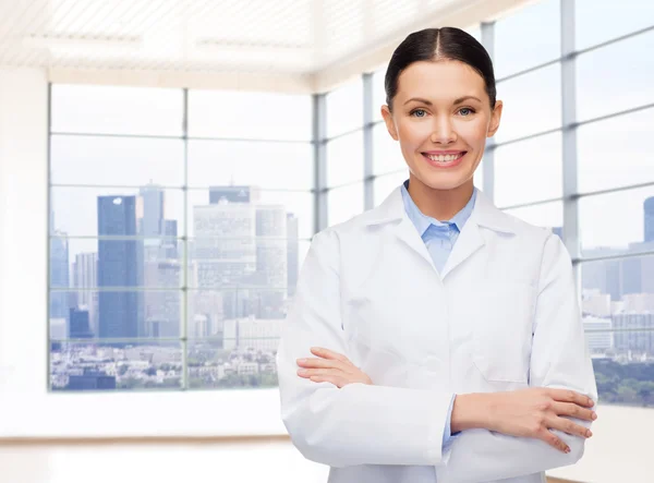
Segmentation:
{"type": "Polygon", "coordinates": [[[326,481],[278,338],[407,179],[386,64],[446,25],[505,102],[475,184],[574,261],[600,420],[549,476],[654,480],[654,1],[0,0],[1,482],[326,481]]]}

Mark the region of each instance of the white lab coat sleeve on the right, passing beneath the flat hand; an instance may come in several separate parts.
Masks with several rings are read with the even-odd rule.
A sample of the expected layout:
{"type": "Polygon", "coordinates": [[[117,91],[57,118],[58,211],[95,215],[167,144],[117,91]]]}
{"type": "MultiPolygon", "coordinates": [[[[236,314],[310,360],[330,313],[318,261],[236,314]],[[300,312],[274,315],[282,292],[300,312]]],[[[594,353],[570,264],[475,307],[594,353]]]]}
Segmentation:
{"type": "MultiPolygon", "coordinates": [[[[597,402],[570,256],[556,236],[549,236],[544,247],[530,386],[572,389],[597,402]]],[[[585,421],[572,421],[591,426],[585,421]]],[[[554,433],[570,447],[569,454],[540,439],[485,430],[464,431],[452,444],[448,464],[437,469],[438,483],[494,481],[576,463],[583,455],[584,439],[559,431],[554,433]]]]}

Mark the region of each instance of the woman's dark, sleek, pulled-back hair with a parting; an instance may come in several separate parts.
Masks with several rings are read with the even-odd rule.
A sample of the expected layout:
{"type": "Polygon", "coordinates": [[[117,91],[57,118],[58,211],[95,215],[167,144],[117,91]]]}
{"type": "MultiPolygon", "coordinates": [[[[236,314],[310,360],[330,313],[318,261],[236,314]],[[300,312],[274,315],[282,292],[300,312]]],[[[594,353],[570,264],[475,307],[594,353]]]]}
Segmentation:
{"type": "Polygon", "coordinates": [[[392,52],[386,71],[386,104],[398,93],[398,80],[404,69],[413,62],[458,60],[467,63],[484,79],[491,108],[495,107],[495,73],[491,56],[472,35],[456,27],[425,28],[410,34],[392,52]]]}

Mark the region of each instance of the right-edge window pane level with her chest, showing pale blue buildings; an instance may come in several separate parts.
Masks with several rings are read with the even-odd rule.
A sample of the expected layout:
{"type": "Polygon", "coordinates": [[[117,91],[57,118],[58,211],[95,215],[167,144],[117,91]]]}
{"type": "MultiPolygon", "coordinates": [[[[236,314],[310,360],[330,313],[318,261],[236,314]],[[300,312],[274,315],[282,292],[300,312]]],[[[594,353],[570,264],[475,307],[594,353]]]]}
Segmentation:
{"type": "MultiPolygon", "coordinates": [[[[642,249],[654,251],[654,243],[642,249]]],[[[615,251],[593,250],[584,255],[610,256],[615,251]]],[[[581,264],[584,312],[597,317],[616,313],[654,314],[654,255],[602,259],[581,264]]]]}

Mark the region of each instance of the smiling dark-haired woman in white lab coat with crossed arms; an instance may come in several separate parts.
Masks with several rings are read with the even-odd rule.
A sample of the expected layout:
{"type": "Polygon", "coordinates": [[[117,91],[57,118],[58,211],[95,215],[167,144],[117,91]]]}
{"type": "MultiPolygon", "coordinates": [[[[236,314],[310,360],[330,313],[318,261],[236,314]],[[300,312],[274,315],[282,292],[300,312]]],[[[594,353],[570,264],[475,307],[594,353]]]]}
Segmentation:
{"type": "Polygon", "coordinates": [[[409,180],[314,237],[277,354],[282,420],[330,481],[541,482],[596,419],[570,257],[473,184],[502,112],[477,40],[409,35],[385,87],[409,180]]]}

